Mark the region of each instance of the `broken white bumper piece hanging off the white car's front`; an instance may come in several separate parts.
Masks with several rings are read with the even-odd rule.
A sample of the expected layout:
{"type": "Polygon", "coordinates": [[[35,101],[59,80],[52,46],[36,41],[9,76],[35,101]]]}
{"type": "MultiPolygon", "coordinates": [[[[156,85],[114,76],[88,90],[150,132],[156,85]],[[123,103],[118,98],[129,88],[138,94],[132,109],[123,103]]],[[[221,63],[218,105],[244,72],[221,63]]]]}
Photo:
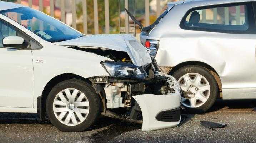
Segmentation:
{"type": "Polygon", "coordinates": [[[178,89],[174,94],[145,94],[133,98],[142,111],[142,131],[172,128],[180,123],[181,93],[178,89]]]}

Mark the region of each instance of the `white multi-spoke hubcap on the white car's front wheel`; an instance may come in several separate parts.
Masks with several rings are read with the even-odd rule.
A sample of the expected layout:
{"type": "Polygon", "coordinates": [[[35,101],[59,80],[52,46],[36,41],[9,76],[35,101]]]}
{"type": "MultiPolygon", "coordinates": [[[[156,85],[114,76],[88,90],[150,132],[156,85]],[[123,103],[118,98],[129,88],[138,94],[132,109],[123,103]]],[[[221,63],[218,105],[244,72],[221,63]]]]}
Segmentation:
{"type": "Polygon", "coordinates": [[[67,126],[76,126],[85,121],[89,114],[89,101],[81,91],[67,88],[59,92],[52,108],[55,117],[67,126]]]}

